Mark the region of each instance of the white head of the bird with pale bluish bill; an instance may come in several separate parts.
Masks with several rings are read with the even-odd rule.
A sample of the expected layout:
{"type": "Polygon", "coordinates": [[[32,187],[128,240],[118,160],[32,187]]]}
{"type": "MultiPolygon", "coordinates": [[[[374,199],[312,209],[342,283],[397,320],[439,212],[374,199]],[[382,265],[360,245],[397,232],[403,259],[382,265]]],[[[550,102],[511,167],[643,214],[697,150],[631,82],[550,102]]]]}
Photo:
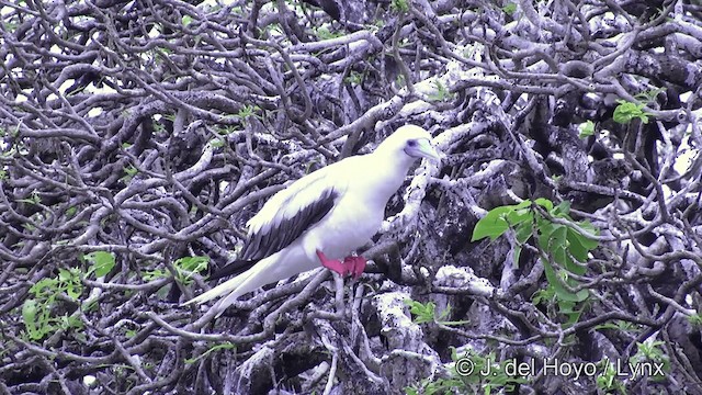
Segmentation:
{"type": "Polygon", "coordinates": [[[439,153],[431,145],[431,135],[423,128],[415,125],[405,125],[387,137],[376,149],[378,153],[387,153],[405,156],[407,159],[427,158],[440,160],[439,153]]]}

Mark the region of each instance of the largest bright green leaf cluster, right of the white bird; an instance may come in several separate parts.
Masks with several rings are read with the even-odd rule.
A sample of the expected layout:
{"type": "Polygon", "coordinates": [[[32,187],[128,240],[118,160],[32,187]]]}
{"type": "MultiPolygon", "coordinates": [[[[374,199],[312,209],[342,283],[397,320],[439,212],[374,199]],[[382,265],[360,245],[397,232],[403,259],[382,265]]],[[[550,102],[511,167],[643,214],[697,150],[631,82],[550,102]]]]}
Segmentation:
{"type": "Polygon", "coordinates": [[[585,262],[588,260],[588,255],[598,246],[597,240],[581,233],[585,230],[596,235],[595,227],[588,222],[574,222],[568,215],[569,211],[568,202],[554,206],[547,199],[496,207],[478,221],[472,239],[475,241],[489,237],[495,240],[509,229],[513,229],[518,242],[514,252],[516,263],[519,262],[521,246],[530,239],[536,240],[548,289],[537,292],[534,295],[534,303],[555,298],[559,313],[568,317],[567,325],[579,319],[581,311],[576,309],[576,304],[585,302],[589,296],[587,289],[574,290],[579,282],[573,278],[573,274],[586,273],[585,262]],[[551,218],[564,221],[555,223],[551,218]],[[563,222],[573,225],[566,225],[563,222]]]}

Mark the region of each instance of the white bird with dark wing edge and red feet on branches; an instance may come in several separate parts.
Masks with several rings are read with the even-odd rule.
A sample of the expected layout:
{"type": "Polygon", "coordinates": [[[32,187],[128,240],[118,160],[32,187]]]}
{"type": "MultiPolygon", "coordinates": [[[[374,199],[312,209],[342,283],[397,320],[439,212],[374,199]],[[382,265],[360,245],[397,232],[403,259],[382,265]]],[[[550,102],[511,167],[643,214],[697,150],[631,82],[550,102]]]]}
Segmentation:
{"type": "Polygon", "coordinates": [[[358,278],[365,259],[349,255],[375,235],[387,201],[418,158],[440,157],[427,131],[405,125],[372,154],[342,159],[291,183],[247,223],[248,240],[240,260],[220,272],[228,275],[242,263],[256,264],[185,304],[227,295],[213,307],[220,315],[239,296],[320,263],[358,278]]]}

